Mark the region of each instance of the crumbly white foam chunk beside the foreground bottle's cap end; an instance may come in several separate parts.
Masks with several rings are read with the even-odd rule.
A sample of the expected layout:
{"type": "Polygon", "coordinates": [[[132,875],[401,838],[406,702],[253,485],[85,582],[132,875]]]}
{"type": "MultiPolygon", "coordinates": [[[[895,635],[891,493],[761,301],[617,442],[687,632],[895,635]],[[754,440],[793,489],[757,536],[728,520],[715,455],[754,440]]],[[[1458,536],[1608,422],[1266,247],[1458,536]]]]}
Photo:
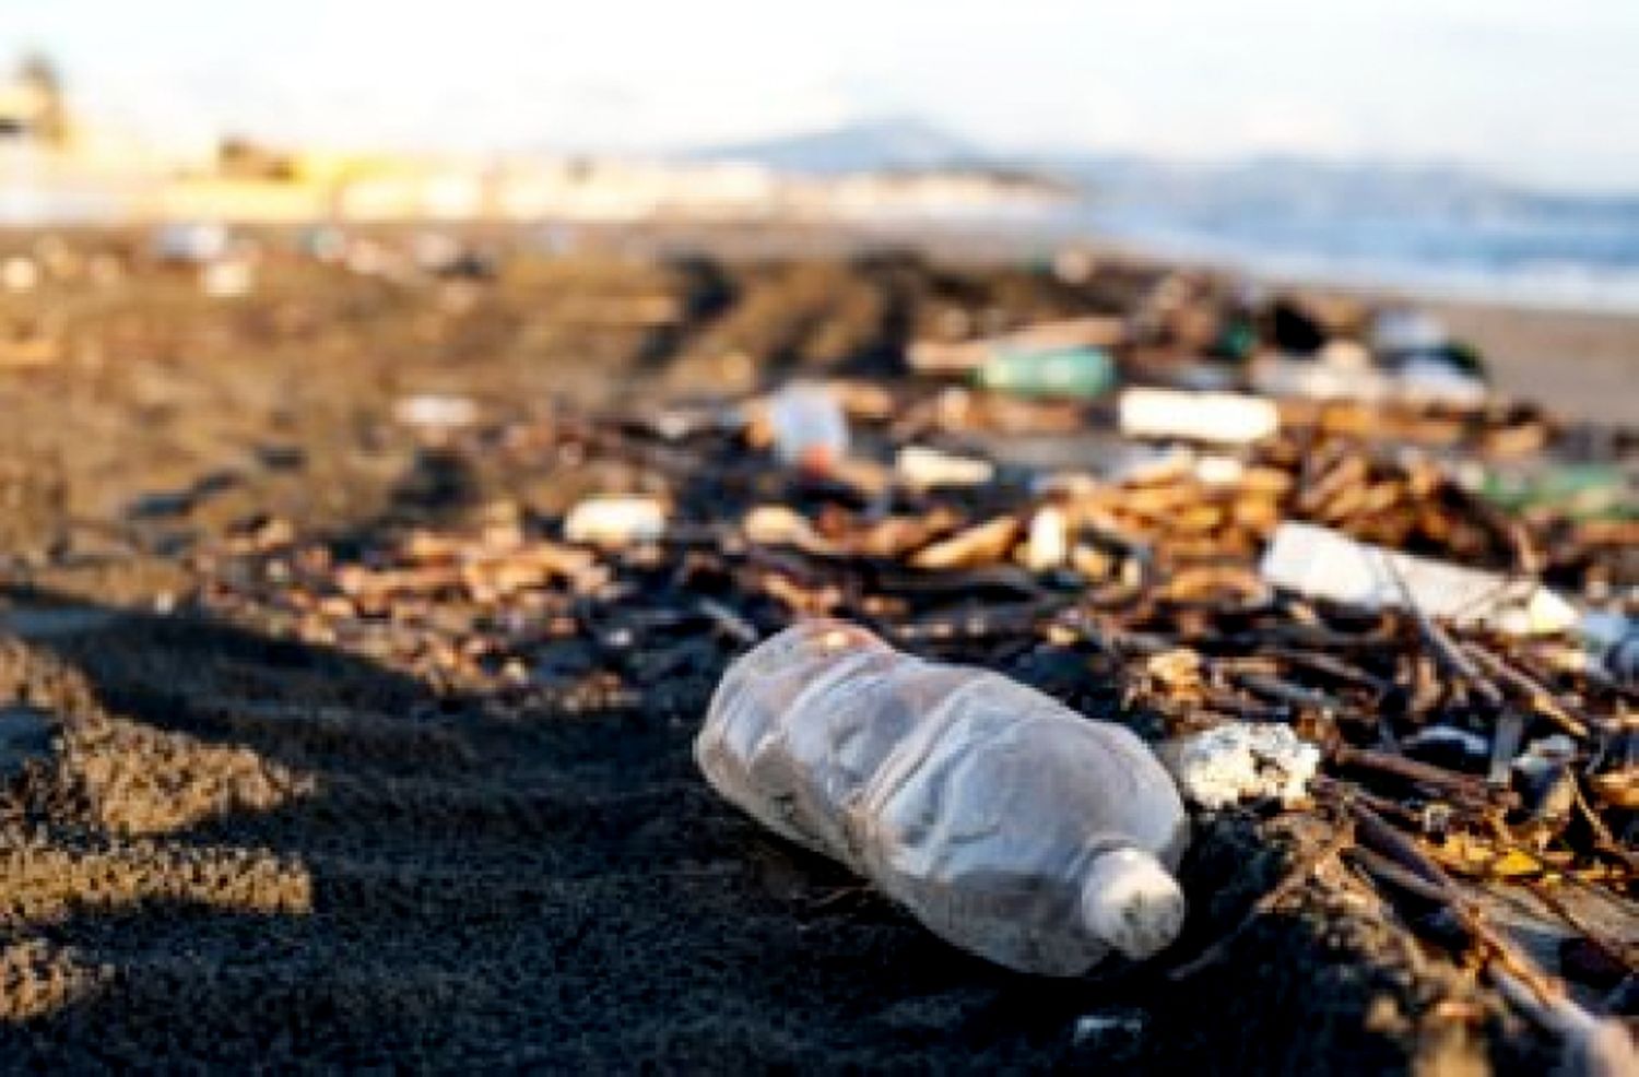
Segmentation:
{"type": "Polygon", "coordinates": [[[1321,764],[1319,749],[1292,726],[1249,721],[1169,741],[1159,754],[1183,797],[1208,810],[1267,797],[1296,803],[1321,764]]]}

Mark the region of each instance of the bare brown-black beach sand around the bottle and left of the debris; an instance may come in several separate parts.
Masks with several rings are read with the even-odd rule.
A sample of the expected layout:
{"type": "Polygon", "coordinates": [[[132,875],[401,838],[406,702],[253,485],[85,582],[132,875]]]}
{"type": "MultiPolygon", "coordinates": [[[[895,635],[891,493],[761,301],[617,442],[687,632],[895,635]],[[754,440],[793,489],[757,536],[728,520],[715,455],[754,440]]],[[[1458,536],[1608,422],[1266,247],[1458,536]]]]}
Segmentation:
{"type": "MultiPolygon", "coordinates": [[[[700,267],[585,261],[5,300],[69,341],[0,370],[0,1067],[1541,1070],[1495,1000],[1313,897],[1178,985],[965,957],[711,795],[690,743],[716,669],[642,713],[503,715],[267,625],[141,611],[256,513],[346,534],[498,497],[557,511],[595,482],[480,461],[459,497],[406,498],[403,392],[505,415],[621,382],[726,390],[880,364],[934,293],[1103,302],[905,264],[729,275],[733,302],[700,267]],[[552,311],[577,290],[692,297],[697,321],[570,325],[552,311]]],[[[1239,921],[1283,848],[1252,818],[1200,834],[1182,952],[1239,921]]]]}

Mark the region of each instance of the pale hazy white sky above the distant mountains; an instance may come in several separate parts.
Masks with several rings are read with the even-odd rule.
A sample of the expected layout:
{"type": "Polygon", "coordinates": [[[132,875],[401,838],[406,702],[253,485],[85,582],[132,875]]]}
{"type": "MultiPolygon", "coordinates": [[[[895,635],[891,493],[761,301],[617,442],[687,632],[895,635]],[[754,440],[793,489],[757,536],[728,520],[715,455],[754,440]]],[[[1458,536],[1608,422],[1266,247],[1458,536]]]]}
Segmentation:
{"type": "Polygon", "coordinates": [[[1639,190],[1639,0],[0,0],[0,64],[174,143],[665,151],[918,116],[1639,190]]]}

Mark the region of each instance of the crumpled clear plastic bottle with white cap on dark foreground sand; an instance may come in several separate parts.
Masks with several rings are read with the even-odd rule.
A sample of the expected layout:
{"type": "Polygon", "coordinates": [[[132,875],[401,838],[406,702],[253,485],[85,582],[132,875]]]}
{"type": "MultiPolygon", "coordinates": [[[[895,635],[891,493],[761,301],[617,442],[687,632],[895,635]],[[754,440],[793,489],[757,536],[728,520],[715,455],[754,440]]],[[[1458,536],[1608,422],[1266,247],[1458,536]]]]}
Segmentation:
{"type": "Polygon", "coordinates": [[[1183,923],[1167,772],[1128,729],[1000,674],[805,621],[729,667],[695,759],[765,826],[1010,969],[1149,957],[1183,923]]]}

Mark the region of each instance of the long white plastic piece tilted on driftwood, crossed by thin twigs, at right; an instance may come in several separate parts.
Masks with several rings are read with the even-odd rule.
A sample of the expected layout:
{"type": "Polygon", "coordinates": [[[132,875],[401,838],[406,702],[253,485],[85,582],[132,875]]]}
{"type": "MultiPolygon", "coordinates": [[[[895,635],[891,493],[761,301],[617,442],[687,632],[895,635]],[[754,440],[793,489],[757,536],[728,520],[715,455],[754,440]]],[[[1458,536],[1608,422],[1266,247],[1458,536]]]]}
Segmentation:
{"type": "Polygon", "coordinates": [[[1398,554],[1310,523],[1277,528],[1262,574],[1277,587],[1369,610],[1406,608],[1410,597],[1429,616],[1519,636],[1565,631],[1578,620],[1569,602],[1534,580],[1398,554]]]}

